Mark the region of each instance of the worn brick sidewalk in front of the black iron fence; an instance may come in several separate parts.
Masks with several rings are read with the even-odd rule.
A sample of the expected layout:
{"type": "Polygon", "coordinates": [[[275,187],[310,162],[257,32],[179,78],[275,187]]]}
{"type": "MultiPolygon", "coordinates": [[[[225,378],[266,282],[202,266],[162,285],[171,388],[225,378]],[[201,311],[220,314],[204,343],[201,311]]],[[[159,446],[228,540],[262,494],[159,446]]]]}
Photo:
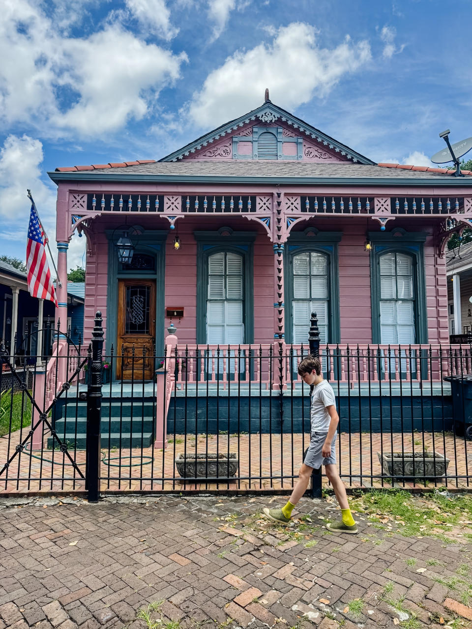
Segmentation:
{"type": "Polygon", "coordinates": [[[173,629],[222,629],[228,618],[242,627],[369,629],[411,611],[418,624],[408,626],[439,627],[454,618],[448,607],[472,618],[453,600],[461,600],[460,585],[448,591],[434,581],[467,572],[472,544],[461,535],[447,545],[386,537],[360,515],[359,535],[332,535],[322,518],[337,509],[307,498],[298,513],[313,521],[308,546],[310,536],[286,541],[270,523],[262,532],[252,525],[261,498],[11,502],[0,501],[0,629],[145,629],[137,611],[157,601],[163,629],[167,620],[180,621],[173,629]],[[405,597],[398,607],[409,611],[387,604],[386,593],[405,597]],[[359,598],[354,616],[349,604],[359,598]]]}

